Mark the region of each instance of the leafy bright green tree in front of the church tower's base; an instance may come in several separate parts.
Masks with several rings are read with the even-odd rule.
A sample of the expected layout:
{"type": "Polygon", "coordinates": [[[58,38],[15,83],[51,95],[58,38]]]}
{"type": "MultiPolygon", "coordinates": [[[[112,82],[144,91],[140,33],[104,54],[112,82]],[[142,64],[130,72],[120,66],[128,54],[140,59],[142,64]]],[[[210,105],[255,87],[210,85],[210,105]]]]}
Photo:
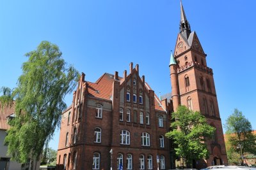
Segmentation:
{"type": "Polygon", "coordinates": [[[215,128],[207,124],[204,115],[198,111],[191,111],[186,106],[179,106],[172,114],[172,131],[166,133],[166,137],[173,140],[175,153],[191,166],[193,160],[207,159],[209,152],[205,144],[205,138],[211,138],[215,128]]]}

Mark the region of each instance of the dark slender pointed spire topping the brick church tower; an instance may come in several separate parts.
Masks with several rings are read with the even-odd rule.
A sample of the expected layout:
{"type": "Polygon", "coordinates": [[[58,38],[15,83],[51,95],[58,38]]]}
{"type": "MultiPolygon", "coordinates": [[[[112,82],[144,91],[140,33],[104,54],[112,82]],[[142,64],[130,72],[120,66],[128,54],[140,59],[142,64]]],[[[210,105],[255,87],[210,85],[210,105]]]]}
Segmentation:
{"type": "Polygon", "coordinates": [[[182,6],[181,0],[180,0],[180,33],[186,39],[188,39],[189,34],[191,33],[190,25],[186,18],[186,14],[185,14],[184,8],[182,6]]]}

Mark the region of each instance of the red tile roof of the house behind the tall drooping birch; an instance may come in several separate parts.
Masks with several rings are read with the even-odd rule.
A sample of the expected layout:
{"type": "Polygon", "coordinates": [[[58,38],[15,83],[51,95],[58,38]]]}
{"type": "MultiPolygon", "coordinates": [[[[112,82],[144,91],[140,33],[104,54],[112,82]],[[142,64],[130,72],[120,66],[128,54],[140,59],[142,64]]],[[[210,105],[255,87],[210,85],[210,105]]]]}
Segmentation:
{"type": "Polygon", "coordinates": [[[15,101],[12,104],[1,104],[0,103],[0,129],[8,130],[8,117],[15,113],[15,101]]]}

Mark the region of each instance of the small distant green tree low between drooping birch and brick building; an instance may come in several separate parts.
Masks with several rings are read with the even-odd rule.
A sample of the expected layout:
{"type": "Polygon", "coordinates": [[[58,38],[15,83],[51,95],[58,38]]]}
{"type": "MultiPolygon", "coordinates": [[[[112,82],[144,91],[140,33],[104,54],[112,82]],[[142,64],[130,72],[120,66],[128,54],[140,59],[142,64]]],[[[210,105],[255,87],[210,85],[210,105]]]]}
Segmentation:
{"type": "Polygon", "coordinates": [[[42,155],[41,165],[51,164],[56,165],[57,151],[52,148],[44,148],[44,154],[42,155]]]}

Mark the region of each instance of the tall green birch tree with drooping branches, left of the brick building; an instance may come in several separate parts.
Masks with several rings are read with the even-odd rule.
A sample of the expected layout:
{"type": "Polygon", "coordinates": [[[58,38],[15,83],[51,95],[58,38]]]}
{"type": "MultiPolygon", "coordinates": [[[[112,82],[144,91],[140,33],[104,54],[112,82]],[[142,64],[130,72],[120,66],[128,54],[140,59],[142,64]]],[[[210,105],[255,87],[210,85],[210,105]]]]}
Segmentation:
{"type": "Polygon", "coordinates": [[[60,126],[61,113],[67,108],[66,94],[76,86],[79,74],[67,66],[57,45],[42,41],[26,53],[22,74],[13,90],[4,87],[1,103],[15,100],[15,118],[5,142],[12,159],[25,163],[38,160],[45,145],[60,126]]]}

